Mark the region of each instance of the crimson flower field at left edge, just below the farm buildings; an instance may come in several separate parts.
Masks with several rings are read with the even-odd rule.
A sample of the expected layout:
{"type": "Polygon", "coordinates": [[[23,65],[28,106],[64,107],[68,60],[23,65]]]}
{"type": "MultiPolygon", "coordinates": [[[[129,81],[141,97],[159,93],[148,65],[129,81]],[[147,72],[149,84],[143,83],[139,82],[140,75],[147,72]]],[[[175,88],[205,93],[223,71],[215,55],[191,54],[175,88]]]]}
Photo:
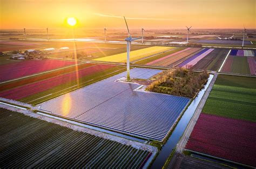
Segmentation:
{"type": "Polygon", "coordinates": [[[51,59],[25,60],[23,62],[2,64],[0,65],[0,82],[74,64],[75,62],[71,61],[51,59]]]}

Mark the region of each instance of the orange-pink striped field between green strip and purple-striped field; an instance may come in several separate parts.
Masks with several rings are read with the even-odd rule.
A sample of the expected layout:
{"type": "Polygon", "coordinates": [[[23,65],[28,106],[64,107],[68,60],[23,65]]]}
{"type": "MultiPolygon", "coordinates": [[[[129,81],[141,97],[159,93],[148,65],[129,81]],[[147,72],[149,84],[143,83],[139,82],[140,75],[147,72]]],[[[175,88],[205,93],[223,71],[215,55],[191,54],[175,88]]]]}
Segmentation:
{"type": "Polygon", "coordinates": [[[161,57],[157,60],[153,60],[147,65],[159,65],[159,66],[174,66],[180,62],[183,62],[186,58],[189,58],[193,53],[199,51],[200,48],[186,48],[175,53],[171,53],[165,57],[161,57]]]}

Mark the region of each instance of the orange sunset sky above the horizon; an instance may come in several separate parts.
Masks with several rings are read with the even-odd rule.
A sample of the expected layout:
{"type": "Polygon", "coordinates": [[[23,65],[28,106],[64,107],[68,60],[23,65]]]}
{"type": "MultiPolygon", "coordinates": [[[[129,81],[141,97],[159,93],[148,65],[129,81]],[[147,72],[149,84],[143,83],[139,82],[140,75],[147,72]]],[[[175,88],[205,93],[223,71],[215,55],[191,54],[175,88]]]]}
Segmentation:
{"type": "Polygon", "coordinates": [[[0,0],[1,28],[256,28],[255,0],[0,0]]]}

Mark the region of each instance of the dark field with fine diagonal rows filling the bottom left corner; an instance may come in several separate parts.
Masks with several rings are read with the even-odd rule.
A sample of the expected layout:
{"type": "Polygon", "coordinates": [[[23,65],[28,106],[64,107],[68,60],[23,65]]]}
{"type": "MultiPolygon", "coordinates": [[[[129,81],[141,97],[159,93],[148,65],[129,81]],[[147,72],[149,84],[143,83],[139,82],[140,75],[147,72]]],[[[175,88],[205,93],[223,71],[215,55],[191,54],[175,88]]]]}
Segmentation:
{"type": "Polygon", "coordinates": [[[142,168],[148,147],[0,109],[3,168],[142,168]],[[122,142],[123,141],[123,142],[122,142]]]}

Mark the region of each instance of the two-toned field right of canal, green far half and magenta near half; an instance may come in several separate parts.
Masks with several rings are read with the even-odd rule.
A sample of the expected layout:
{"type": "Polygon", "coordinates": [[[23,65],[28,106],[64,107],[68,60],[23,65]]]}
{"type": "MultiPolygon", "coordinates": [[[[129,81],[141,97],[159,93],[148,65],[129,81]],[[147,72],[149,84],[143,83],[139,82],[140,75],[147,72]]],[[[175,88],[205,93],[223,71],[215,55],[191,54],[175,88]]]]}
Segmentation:
{"type": "Polygon", "coordinates": [[[256,83],[218,75],[186,149],[256,166],[256,83]]]}

